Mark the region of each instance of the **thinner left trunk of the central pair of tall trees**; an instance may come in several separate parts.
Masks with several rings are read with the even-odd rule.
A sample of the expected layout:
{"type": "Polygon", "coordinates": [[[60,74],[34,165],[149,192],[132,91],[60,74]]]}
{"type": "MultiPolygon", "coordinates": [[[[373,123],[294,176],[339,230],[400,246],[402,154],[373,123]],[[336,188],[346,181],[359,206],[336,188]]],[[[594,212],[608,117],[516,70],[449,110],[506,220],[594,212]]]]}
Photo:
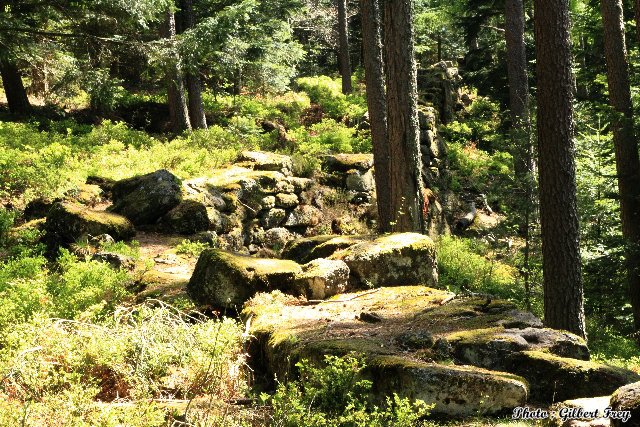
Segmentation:
{"type": "Polygon", "coordinates": [[[360,0],[362,51],[367,106],[376,174],[378,227],[391,231],[391,186],[389,182],[389,144],[387,142],[387,96],[384,87],[380,5],[378,0],[360,0]]]}

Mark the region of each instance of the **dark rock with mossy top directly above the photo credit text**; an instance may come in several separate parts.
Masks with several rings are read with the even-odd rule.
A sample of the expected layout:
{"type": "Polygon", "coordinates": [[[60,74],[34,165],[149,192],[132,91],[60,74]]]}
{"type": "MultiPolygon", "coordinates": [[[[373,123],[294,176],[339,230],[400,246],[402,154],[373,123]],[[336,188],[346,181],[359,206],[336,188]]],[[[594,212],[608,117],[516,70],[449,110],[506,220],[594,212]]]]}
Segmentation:
{"type": "Polygon", "coordinates": [[[639,375],[626,369],[542,351],[513,353],[505,367],[526,378],[532,399],[542,402],[602,396],[640,380],[639,375]]]}

